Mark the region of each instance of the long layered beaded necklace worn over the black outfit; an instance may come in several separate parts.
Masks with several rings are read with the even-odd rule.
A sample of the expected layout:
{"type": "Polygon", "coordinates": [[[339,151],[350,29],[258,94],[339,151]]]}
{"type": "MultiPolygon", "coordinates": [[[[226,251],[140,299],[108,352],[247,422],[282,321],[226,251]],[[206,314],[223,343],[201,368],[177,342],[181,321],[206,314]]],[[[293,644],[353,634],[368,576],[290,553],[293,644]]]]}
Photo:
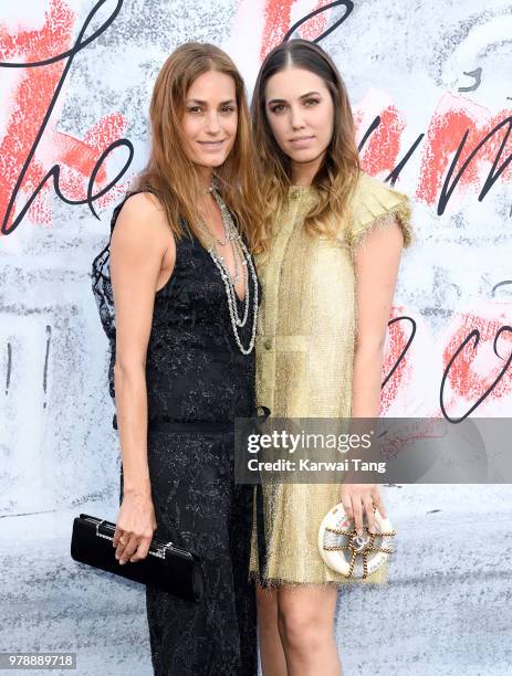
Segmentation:
{"type": "Polygon", "coordinates": [[[218,240],[218,239],[216,239],[216,241],[221,246],[226,246],[228,242],[230,243],[231,252],[233,254],[233,261],[234,261],[233,275],[231,276],[231,273],[228,266],[226,265],[224,257],[220,256],[217,253],[217,250],[215,249],[213,245],[210,245],[208,247],[208,253],[213,260],[213,263],[217,265],[220,272],[220,276],[222,277],[222,281],[224,283],[226,295],[228,298],[229,316],[231,318],[231,326],[233,329],[233,335],[234,335],[237,345],[240,351],[242,352],[242,355],[250,355],[254,348],[255,332],[257,332],[258,276],[254,270],[254,265],[252,263],[251,255],[249,251],[247,250],[247,246],[240,233],[238,232],[237,226],[233,223],[233,219],[231,218],[229,209],[227,208],[224,201],[222,200],[219,192],[217,191],[217,186],[215,182],[208,189],[208,192],[211,192],[215,201],[217,202],[220,209],[220,214],[222,218],[222,226],[224,229],[224,241],[222,242],[222,240],[218,240]],[[240,267],[240,264],[238,262],[239,258],[241,261],[242,267],[240,267]],[[236,284],[240,282],[240,275],[242,274],[243,268],[245,268],[245,274],[243,275],[243,288],[244,288],[244,298],[242,302],[243,303],[243,316],[240,317],[239,311],[238,311],[238,305],[237,305],[238,294],[237,294],[236,284]],[[252,286],[253,286],[253,294],[252,294],[253,317],[252,317],[251,338],[249,341],[249,346],[245,348],[243,347],[242,341],[240,340],[239,329],[245,326],[247,320],[249,318],[249,305],[250,305],[249,276],[251,277],[252,286]]]}

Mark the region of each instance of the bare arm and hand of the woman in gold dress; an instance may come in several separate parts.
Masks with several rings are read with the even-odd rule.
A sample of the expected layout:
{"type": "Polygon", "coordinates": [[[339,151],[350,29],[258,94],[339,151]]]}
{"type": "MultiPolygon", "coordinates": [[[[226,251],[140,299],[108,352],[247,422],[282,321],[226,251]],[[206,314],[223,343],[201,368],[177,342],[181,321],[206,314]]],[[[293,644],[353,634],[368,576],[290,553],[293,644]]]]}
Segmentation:
{"type": "MultiPolygon", "coordinates": [[[[404,236],[396,216],[385,228],[374,228],[357,246],[354,256],[356,279],[356,345],[354,351],[352,418],[377,418],[387,325],[400,265],[404,236]]],[[[386,517],[376,484],[343,484],[342,501],[348,517],[363,527],[366,511],[374,531],[373,503],[386,517]]]]}

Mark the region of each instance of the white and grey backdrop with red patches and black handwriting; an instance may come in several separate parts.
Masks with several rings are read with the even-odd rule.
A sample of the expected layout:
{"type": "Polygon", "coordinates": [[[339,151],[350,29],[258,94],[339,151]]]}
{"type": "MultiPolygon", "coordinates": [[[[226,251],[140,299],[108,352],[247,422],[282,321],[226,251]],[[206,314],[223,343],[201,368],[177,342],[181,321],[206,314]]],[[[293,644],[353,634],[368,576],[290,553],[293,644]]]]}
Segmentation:
{"type": "MultiPolygon", "coordinates": [[[[383,413],[510,415],[512,2],[328,4],[0,0],[0,652],[71,649],[80,674],[150,673],[143,591],[75,564],[69,540],[79,511],[117,514],[88,275],[147,157],[156,74],[181,42],[226,49],[250,94],[267,51],[322,8],[294,36],[335,27],[320,43],[347,84],[363,166],[415,204],[393,310],[408,319],[389,327],[384,374],[412,340],[383,413]]],[[[341,595],[346,673],[505,674],[509,486],[394,485],[386,499],[400,550],[387,587],[341,595]]]]}

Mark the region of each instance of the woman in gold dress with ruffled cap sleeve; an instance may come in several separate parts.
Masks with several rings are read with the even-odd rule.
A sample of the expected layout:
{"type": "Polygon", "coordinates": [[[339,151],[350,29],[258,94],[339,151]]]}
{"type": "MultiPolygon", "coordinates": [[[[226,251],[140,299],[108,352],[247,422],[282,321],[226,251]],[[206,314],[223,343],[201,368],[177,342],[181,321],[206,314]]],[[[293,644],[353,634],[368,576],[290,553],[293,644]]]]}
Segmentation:
{"type": "MultiPolygon", "coordinates": [[[[408,198],[359,169],[343,81],[316,44],[291,40],[265,59],[252,99],[268,236],[257,263],[263,286],[257,397],[276,418],[377,418],[383,348],[408,198]]],[[[376,484],[263,485],[254,519],[264,676],[338,676],[338,588],[348,580],[317,550],[325,514],[342,501],[363,532],[386,517],[376,484]],[[265,562],[258,554],[264,532],[265,562]]],[[[365,582],[384,582],[386,568],[365,582]]]]}

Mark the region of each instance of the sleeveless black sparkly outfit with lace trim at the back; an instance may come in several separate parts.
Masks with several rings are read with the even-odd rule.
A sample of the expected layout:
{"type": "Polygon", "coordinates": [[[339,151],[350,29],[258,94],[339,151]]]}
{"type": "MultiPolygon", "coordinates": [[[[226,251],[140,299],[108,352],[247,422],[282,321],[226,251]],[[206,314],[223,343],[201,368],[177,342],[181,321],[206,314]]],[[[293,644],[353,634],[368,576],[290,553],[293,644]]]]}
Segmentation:
{"type": "MultiPolygon", "coordinates": [[[[125,200],[114,210],[111,232],[125,200]]],[[[111,341],[114,397],[108,246],[93,263],[93,291],[111,341]]],[[[252,298],[250,289],[251,306],[252,298]]],[[[251,323],[252,311],[244,346],[251,323]]],[[[232,424],[254,413],[254,352],[238,348],[223,281],[192,236],[177,242],[173,275],[156,293],[146,383],[155,537],[196,551],[206,582],[198,604],[146,587],[155,674],[255,675],[255,602],[248,581],[252,490],[234,484],[232,424]]]]}

